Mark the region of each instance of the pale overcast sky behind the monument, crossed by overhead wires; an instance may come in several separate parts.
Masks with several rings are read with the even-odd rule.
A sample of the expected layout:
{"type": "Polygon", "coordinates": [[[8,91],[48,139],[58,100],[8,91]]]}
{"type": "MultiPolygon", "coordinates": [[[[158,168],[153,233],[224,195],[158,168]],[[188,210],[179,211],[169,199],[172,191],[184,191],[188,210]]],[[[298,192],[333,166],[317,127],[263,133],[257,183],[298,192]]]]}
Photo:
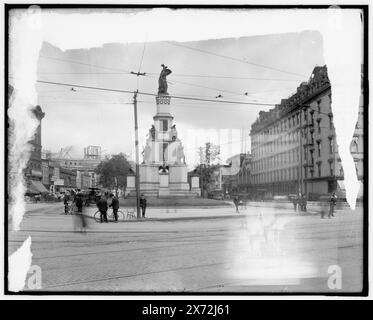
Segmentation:
{"type": "MultiPolygon", "coordinates": [[[[323,44],[320,34],[313,31],[185,43],[108,43],[68,51],[44,43],[38,79],[156,94],[162,63],[172,70],[167,78],[170,95],[275,104],[307,81],[316,65],[324,65],[323,44]],[[136,77],[131,71],[147,75],[136,77]],[[218,95],[222,98],[216,98],[218,95]]],[[[84,147],[99,145],[104,153],[124,152],[134,157],[132,93],[40,83],[37,91],[46,114],[43,149],[58,152],[73,146],[71,154],[82,156],[84,147]]],[[[156,104],[152,96],[139,95],[138,100],[141,151],[156,104]]],[[[270,108],[173,98],[171,112],[189,166],[196,162],[197,148],[207,141],[221,144],[223,162],[245,145],[249,151],[251,124],[260,110],[270,108]],[[246,139],[240,137],[241,130],[246,139]]]]}

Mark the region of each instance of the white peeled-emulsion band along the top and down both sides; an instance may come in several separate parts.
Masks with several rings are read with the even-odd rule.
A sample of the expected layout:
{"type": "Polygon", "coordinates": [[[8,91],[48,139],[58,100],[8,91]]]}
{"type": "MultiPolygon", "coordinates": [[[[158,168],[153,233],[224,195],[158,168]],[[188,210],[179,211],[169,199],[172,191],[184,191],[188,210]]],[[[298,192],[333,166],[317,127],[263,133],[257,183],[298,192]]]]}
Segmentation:
{"type": "Polygon", "coordinates": [[[358,180],[349,147],[361,94],[362,19],[358,9],[285,10],[12,10],[9,61],[14,87],[8,111],[10,136],[12,228],[19,230],[25,212],[22,170],[30,154],[27,143],[36,129],[30,107],[36,104],[36,71],[42,42],[62,50],[104,43],[199,41],[253,35],[319,31],[331,81],[332,110],[346,197],[354,209],[358,180]],[[271,23],[268,23],[268,22],[271,23]]]}

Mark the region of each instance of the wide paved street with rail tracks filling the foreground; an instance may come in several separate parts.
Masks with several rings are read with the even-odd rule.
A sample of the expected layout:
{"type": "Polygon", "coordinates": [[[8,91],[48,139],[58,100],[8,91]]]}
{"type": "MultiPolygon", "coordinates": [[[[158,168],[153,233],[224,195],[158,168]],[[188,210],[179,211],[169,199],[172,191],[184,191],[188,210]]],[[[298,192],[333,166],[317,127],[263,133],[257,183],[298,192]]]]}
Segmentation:
{"type": "MultiPolygon", "coordinates": [[[[91,206],[85,214],[91,216],[91,206]]],[[[317,212],[249,204],[149,208],[147,219],[74,231],[63,204],[30,204],[9,254],[31,236],[42,291],[357,292],[362,289],[363,210],[317,212]],[[333,269],[334,268],[334,269],[333,269]],[[341,287],[330,287],[333,270],[341,287]]],[[[28,288],[25,288],[28,290],[28,288]]]]}

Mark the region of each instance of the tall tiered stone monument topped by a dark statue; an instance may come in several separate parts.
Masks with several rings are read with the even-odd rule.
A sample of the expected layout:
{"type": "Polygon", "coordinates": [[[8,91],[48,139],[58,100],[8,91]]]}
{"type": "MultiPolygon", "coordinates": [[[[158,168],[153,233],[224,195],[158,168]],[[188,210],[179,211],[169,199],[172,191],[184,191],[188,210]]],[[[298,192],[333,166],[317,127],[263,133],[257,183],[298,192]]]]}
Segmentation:
{"type": "MultiPolygon", "coordinates": [[[[201,195],[198,177],[188,183],[188,170],[184,147],[178,138],[174,117],[171,114],[171,97],[166,77],[171,70],[162,64],[159,76],[157,113],[149,129],[143,149],[143,162],[139,166],[140,192],[148,197],[198,197],[201,195]]],[[[135,196],[135,178],[128,176],[126,194],[135,196]]]]}

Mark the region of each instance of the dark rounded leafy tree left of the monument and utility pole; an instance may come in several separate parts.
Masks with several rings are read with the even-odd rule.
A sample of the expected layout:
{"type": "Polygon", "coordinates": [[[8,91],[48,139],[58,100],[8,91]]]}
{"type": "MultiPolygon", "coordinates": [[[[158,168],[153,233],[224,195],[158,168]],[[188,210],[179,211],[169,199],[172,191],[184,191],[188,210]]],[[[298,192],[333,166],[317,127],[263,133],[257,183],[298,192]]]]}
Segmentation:
{"type": "Polygon", "coordinates": [[[95,172],[100,175],[100,183],[108,189],[125,188],[127,175],[131,164],[123,153],[112,156],[109,160],[102,161],[95,172]]]}

